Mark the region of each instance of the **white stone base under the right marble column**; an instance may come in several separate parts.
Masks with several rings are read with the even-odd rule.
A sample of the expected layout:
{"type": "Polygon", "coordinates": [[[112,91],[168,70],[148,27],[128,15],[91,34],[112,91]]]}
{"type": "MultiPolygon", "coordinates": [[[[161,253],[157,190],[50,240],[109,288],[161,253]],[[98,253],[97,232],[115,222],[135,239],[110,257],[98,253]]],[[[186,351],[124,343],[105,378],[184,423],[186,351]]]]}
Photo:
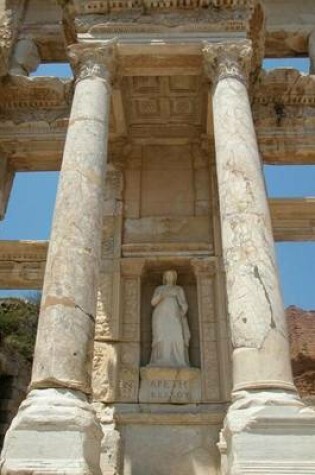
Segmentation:
{"type": "Polygon", "coordinates": [[[314,475],[315,411],[294,393],[235,393],[221,440],[222,475],[314,475]]]}

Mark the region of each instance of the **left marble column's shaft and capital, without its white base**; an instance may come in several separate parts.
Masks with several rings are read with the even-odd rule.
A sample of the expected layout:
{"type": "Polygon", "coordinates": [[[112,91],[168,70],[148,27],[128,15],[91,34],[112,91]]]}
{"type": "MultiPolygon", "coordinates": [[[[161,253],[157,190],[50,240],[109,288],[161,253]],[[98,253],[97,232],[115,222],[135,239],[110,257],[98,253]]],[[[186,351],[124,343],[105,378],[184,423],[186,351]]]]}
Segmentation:
{"type": "Polygon", "coordinates": [[[46,264],[32,388],[90,392],[112,46],[74,45],[79,76],[46,264]]]}

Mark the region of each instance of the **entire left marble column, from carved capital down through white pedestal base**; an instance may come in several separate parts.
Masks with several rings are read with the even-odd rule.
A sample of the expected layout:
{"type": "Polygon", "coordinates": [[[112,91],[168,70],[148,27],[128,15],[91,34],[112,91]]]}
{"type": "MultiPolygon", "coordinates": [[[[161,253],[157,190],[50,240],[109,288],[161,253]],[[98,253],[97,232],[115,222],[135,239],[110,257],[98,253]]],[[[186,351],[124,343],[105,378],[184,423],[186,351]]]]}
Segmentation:
{"type": "Polygon", "coordinates": [[[114,51],[113,43],[76,44],[69,49],[77,80],[48,250],[31,391],[6,437],[3,474],[100,471],[101,430],[87,395],[114,51]]]}

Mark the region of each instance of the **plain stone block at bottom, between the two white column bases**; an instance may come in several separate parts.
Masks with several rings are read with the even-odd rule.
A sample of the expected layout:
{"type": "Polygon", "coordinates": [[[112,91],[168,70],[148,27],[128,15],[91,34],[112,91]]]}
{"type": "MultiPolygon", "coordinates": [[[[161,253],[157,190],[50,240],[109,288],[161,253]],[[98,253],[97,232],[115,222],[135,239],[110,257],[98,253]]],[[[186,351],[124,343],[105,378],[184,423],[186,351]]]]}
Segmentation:
{"type": "MultiPolygon", "coordinates": [[[[171,419],[171,415],[169,414],[171,419]]],[[[218,428],[130,424],[121,429],[123,475],[219,475],[218,428]]]]}

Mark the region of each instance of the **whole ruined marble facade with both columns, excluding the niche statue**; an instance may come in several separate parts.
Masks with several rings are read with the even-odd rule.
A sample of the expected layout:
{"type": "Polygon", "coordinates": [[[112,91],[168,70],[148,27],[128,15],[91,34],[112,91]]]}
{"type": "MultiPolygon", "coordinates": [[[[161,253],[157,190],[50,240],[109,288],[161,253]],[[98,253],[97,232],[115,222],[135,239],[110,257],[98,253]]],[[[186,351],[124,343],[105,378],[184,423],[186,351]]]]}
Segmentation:
{"type": "MultiPolygon", "coordinates": [[[[51,25],[36,33],[37,3],[16,6],[0,45],[1,215],[16,171],[60,168],[60,181],[48,249],[2,248],[0,279],[43,281],[43,298],[1,474],[315,474],[274,254],[274,239],[314,239],[314,202],[300,204],[299,232],[262,172],[262,160],[314,160],[312,134],[292,145],[315,129],[314,77],[261,69],[265,49],[297,49],[292,25],[290,46],[272,49],[268,1],[48,2],[63,53],[51,25]],[[63,54],[74,81],[27,76],[63,54]],[[152,295],[169,269],[187,299],[186,367],[150,365],[152,295]]],[[[311,31],[298,44],[313,54],[311,31]]]]}

